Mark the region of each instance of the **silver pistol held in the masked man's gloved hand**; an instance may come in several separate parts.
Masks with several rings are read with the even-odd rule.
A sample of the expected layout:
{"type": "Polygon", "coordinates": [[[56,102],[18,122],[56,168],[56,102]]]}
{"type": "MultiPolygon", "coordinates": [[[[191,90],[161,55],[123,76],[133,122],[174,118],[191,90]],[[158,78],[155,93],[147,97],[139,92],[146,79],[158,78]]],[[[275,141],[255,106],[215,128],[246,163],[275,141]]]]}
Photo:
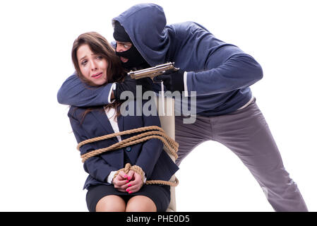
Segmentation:
{"type": "Polygon", "coordinates": [[[128,72],[128,76],[131,76],[133,79],[149,77],[152,78],[152,81],[154,82],[155,76],[160,76],[165,73],[172,73],[174,71],[179,71],[179,69],[174,66],[174,62],[167,62],[166,64],[160,64],[148,69],[130,71],[128,72]]]}

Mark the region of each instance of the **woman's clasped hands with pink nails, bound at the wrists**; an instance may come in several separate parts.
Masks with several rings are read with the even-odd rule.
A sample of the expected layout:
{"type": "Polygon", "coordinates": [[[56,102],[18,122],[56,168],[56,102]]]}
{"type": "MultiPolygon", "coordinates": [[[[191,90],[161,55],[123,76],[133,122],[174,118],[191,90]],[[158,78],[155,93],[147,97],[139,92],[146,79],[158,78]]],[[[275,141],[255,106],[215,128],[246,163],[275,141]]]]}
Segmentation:
{"type": "Polygon", "coordinates": [[[129,170],[127,174],[120,171],[119,174],[112,180],[114,188],[121,192],[132,194],[143,186],[142,176],[133,170],[129,170]]]}

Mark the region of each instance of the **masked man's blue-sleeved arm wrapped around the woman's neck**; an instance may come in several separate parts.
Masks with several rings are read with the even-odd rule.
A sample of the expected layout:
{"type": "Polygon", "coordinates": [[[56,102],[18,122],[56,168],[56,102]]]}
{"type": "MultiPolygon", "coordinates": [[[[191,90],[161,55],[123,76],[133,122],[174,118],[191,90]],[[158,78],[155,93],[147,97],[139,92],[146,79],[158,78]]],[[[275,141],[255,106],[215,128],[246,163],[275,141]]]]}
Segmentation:
{"type": "Polygon", "coordinates": [[[113,98],[113,87],[114,83],[108,83],[98,88],[86,85],[80,81],[76,73],[73,73],[59,88],[57,100],[61,105],[77,107],[107,105],[113,98]]]}

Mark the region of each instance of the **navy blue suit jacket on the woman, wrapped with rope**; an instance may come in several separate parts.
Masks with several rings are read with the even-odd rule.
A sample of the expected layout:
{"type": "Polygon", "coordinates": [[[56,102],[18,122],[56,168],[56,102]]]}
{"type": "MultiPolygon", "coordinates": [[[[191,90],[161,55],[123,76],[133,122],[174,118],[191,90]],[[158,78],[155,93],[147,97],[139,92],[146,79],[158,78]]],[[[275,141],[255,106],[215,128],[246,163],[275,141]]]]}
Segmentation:
{"type": "MultiPolygon", "coordinates": [[[[96,108],[85,115],[86,108],[71,107],[68,117],[71,121],[73,133],[78,143],[89,138],[103,136],[114,133],[109,122],[107,114],[103,107],[96,108]]],[[[119,116],[119,131],[136,129],[143,126],[160,126],[160,119],[157,116],[119,116]]],[[[138,133],[121,136],[122,140],[135,136],[138,133]]],[[[88,143],[80,147],[80,155],[91,150],[106,148],[109,145],[117,143],[116,137],[104,141],[88,143]]],[[[152,138],[144,143],[138,143],[119,150],[112,150],[102,153],[95,157],[90,157],[84,162],[85,172],[88,172],[88,178],[84,189],[91,185],[107,184],[107,177],[110,172],[124,167],[124,153],[131,161],[131,165],[138,165],[145,172],[147,179],[162,179],[168,181],[172,175],[177,172],[179,167],[171,160],[169,155],[163,150],[162,141],[152,138]]]]}

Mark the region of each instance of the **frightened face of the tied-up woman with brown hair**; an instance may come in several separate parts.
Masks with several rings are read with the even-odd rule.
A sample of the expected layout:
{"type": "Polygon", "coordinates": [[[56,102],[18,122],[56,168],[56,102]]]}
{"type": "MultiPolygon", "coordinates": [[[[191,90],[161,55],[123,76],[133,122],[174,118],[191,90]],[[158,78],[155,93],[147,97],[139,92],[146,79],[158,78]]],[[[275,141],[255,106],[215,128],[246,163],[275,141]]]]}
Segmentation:
{"type": "Polygon", "coordinates": [[[94,54],[88,44],[77,49],[77,59],[83,76],[95,85],[107,83],[108,62],[99,54],[94,54]]]}

